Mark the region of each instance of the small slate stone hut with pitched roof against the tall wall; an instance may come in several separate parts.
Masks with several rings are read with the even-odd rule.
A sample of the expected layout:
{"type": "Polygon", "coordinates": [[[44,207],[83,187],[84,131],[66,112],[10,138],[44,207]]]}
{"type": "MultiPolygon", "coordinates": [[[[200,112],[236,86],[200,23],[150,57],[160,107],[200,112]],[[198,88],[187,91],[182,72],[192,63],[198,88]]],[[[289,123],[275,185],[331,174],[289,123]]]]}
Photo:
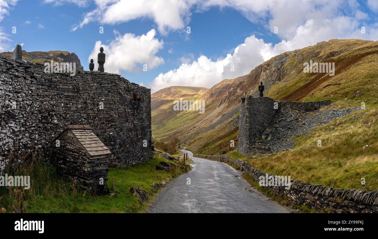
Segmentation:
{"type": "Polygon", "coordinates": [[[88,188],[92,193],[108,191],[108,147],[88,125],[68,125],[51,142],[51,158],[57,172],[68,181],[88,188]]]}

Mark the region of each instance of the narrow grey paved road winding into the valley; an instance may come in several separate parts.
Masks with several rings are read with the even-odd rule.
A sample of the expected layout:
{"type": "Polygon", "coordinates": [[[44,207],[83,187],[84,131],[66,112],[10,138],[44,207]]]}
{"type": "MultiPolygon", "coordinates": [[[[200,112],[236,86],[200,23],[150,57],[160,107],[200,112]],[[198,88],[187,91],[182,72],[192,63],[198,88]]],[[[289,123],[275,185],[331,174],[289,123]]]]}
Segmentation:
{"type": "Polygon", "coordinates": [[[152,203],[150,213],[291,212],[253,189],[231,166],[183,152],[194,161],[193,169],[167,185],[152,203]]]}

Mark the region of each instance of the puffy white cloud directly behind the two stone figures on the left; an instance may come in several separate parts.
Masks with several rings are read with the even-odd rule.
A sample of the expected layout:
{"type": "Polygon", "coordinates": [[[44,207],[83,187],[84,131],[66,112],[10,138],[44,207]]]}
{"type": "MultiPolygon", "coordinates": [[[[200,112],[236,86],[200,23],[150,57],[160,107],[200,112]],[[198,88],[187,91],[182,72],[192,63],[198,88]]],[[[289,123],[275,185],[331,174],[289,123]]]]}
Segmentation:
{"type": "Polygon", "coordinates": [[[108,45],[102,44],[101,41],[95,43],[88,62],[90,59],[97,62],[100,47],[104,47],[105,71],[109,73],[119,73],[121,70],[139,72],[142,70],[140,64],[146,64],[147,70],[164,64],[164,59],[156,56],[156,53],[163,48],[163,40],[159,41],[155,38],[155,29],[141,36],[131,33],[122,36],[117,31],[114,33],[116,37],[108,45]]]}

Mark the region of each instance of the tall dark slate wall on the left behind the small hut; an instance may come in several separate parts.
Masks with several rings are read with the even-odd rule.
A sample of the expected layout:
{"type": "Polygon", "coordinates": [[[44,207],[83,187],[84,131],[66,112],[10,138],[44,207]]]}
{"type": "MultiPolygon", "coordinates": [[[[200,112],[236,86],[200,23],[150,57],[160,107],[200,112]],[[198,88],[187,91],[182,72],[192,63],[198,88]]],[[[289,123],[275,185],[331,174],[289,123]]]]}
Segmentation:
{"type": "Polygon", "coordinates": [[[44,73],[44,65],[0,56],[0,170],[11,152],[36,147],[47,152],[68,124],[91,126],[114,154],[111,165],[146,161],[151,156],[150,93],[118,74],[44,73]]]}

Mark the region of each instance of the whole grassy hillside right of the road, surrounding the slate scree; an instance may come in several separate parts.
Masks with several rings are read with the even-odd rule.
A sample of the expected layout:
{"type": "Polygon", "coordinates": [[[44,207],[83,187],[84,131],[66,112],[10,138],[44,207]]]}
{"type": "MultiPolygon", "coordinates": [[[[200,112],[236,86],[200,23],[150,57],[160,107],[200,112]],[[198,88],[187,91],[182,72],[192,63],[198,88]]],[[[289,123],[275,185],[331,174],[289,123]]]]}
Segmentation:
{"type": "Polygon", "coordinates": [[[220,82],[203,93],[202,97],[211,101],[215,109],[198,119],[200,126],[186,135],[185,146],[198,154],[223,154],[231,149],[231,139],[236,145],[237,126],[230,122],[237,113],[223,121],[220,118],[235,109],[243,94],[257,96],[257,83],[261,80],[265,96],[273,99],[330,99],[334,104],[327,109],[360,107],[364,102],[366,109],[315,127],[306,137],[298,135],[293,138],[297,142],[293,149],[253,158],[249,160],[252,166],[335,188],[378,189],[378,42],[320,42],[273,57],[246,76],[220,82]],[[303,64],[310,60],[335,62],[335,76],[304,73],[303,64]],[[318,140],[322,140],[322,147],[317,147],[318,140]],[[363,148],[365,145],[368,147],[363,148]],[[365,186],[359,183],[361,177],[366,179],[365,186]]]}

